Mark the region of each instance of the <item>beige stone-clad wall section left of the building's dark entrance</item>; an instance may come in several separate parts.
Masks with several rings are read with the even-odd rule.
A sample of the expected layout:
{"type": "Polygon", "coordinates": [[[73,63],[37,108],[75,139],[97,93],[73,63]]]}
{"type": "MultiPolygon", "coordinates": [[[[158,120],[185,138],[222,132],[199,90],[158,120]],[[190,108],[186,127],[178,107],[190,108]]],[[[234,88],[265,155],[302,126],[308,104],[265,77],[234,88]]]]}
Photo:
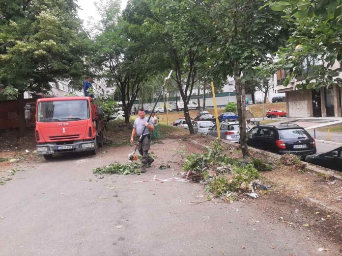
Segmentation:
{"type": "Polygon", "coordinates": [[[313,116],[311,90],[286,92],[286,108],[288,117],[313,116]]]}

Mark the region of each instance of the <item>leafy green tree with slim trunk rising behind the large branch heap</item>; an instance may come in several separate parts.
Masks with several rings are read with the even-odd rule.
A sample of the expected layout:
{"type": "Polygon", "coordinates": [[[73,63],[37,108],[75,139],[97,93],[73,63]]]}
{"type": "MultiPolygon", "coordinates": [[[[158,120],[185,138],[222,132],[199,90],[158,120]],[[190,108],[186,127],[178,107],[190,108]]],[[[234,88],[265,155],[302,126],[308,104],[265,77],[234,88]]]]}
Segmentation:
{"type": "Polygon", "coordinates": [[[271,58],[270,53],[284,44],[286,24],[266,2],[256,0],[214,1],[210,18],[216,30],[209,51],[212,76],[230,76],[235,81],[241,149],[248,155],[246,142],[246,81],[255,77],[253,69],[271,58]]]}

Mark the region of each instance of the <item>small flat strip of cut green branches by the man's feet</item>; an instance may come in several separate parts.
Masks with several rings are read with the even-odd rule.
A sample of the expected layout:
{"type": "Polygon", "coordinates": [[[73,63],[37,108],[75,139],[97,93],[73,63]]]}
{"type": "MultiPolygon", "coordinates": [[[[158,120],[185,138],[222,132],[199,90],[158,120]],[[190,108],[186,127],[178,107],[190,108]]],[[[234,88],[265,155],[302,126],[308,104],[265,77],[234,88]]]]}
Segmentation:
{"type": "Polygon", "coordinates": [[[102,168],[95,168],[93,173],[95,174],[140,174],[141,163],[130,163],[130,164],[110,164],[102,168]]]}

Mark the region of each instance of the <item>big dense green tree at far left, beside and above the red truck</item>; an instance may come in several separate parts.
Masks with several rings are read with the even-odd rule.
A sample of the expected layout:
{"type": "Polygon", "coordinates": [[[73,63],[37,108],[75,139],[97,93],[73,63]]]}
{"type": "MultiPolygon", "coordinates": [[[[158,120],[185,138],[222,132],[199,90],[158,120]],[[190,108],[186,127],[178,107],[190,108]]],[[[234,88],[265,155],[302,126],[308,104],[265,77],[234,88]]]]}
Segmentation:
{"type": "Polygon", "coordinates": [[[89,40],[73,0],[0,0],[0,83],[18,91],[19,135],[25,131],[24,92],[85,74],[89,40]]]}

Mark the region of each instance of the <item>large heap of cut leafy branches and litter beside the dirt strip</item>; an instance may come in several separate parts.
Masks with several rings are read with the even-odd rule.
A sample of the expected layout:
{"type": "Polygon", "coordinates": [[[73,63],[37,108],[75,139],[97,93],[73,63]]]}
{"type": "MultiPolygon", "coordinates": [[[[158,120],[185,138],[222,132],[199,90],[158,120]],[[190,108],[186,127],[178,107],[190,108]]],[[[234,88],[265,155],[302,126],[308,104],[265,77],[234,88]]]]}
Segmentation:
{"type": "Polygon", "coordinates": [[[183,175],[186,179],[204,184],[206,192],[213,196],[234,201],[244,194],[257,197],[255,189],[265,187],[258,180],[260,175],[257,168],[269,171],[272,167],[256,159],[246,161],[230,158],[215,140],[204,154],[189,154],[186,157],[183,175]]]}

